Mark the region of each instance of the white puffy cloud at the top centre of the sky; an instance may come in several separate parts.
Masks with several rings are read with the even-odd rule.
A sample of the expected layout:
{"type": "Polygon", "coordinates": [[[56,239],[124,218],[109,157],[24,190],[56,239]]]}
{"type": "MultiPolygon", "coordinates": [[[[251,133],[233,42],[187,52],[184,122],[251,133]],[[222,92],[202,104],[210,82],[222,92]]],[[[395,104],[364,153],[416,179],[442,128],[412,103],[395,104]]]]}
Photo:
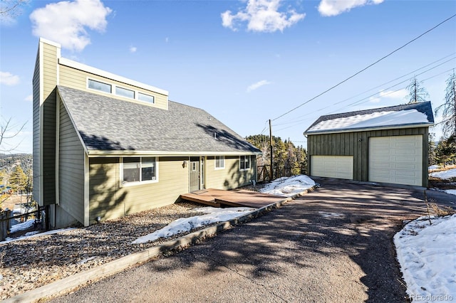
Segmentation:
{"type": "Polygon", "coordinates": [[[283,0],[249,0],[247,7],[232,14],[225,11],[221,14],[222,26],[237,31],[239,23],[247,22],[247,31],[269,32],[284,31],[304,19],[306,14],[298,14],[294,9],[279,11],[283,0]]]}

